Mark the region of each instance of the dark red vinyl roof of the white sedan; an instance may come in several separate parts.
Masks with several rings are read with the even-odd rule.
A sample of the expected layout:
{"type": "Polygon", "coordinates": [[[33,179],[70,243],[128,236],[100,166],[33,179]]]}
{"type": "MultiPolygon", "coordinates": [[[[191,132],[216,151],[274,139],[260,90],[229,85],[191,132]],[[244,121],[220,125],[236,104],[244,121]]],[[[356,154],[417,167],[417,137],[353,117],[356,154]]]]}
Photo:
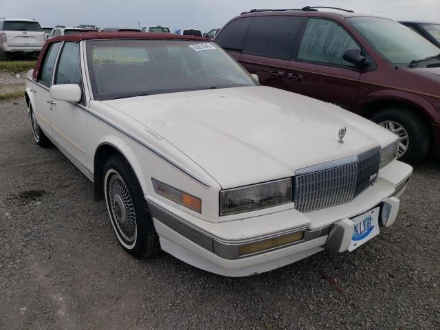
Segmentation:
{"type": "Polygon", "coordinates": [[[154,33],[154,32],[148,32],[148,33],[146,32],[87,32],[87,33],[78,33],[78,34],[67,34],[65,36],[55,36],[54,38],[47,39],[46,43],[41,49],[39,58],[36,61],[32,78],[34,78],[34,80],[37,79],[45,52],[47,50],[47,47],[49,47],[51,43],[56,43],[59,41],[72,41],[74,43],[79,43],[82,40],[89,40],[89,39],[94,39],[94,40],[96,39],[146,39],[146,40],[165,39],[165,40],[210,41],[210,39],[203,38],[201,36],[179,36],[178,34],[173,34],[173,33],[154,33]]]}

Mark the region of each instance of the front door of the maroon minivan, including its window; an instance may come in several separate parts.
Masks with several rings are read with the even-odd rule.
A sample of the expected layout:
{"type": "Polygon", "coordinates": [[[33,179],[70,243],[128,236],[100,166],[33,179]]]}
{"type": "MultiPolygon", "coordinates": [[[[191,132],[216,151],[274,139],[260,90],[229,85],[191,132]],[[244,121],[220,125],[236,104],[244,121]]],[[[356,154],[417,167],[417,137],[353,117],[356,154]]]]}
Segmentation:
{"type": "Polygon", "coordinates": [[[287,65],[289,90],[355,109],[360,71],[342,58],[358,43],[342,25],[329,19],[310,18],[287,65]]]}

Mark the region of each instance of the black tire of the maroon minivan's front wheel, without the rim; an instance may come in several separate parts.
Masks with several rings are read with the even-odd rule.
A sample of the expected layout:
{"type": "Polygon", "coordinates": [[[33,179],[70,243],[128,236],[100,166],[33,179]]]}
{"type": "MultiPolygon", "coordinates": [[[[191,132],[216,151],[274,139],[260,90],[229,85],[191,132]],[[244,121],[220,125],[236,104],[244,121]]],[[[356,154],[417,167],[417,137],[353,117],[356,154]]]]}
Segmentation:
{"type": "Polygon", "coordinates": [[[416,110],[404,107],[390,107],[374,113],[371,118],[377,124],[386,125],[386,122],[395,122],[406,131],[408,145],[406,151],[401,153],[399,160],[408,164],[416,165],[425,159],[430,150],[430,131],[426,122],[416,110]]]}

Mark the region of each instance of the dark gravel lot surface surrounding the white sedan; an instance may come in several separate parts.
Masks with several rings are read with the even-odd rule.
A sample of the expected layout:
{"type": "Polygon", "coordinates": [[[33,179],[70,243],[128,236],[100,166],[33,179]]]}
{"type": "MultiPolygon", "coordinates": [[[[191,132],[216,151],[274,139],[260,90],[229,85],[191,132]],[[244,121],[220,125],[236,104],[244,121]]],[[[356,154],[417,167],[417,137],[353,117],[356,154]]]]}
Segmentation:
{"type": "Polygon", "coordinates": [[[0,329],[440,329],[440,164],[397,223],[351,253],[224,278],[120,248],[103,202],[25,102],[0,102],[0,329]]]}

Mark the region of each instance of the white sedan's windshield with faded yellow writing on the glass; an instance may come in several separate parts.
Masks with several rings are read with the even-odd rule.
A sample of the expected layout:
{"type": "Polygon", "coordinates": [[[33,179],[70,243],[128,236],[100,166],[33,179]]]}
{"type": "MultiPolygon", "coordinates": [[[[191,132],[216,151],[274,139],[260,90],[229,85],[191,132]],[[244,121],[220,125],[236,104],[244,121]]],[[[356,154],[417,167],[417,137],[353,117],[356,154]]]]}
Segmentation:
{"type": "Polygon", "coordinates": [[[96,100],[255,85],[214,43],[94,40],[87,61],[96,100]]]}

